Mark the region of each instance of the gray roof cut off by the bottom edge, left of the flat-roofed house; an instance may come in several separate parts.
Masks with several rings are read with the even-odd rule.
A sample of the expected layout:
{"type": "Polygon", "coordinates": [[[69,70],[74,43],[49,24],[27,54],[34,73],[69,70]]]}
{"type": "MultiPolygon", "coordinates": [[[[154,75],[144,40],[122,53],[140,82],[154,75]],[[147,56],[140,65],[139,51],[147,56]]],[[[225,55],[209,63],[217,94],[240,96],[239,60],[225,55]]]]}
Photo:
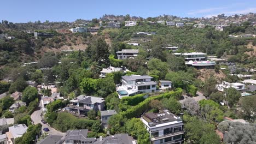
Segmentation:
{"type": "Polygon", "coordinates": [[[117,143],[117,144],[132,144],[132,139],[131,136],[128,134],[115,134],[113,136],[107,136],[100,141],[100,139],[97,139],[95,144],[109,144],[109,143],[117,143]]]}

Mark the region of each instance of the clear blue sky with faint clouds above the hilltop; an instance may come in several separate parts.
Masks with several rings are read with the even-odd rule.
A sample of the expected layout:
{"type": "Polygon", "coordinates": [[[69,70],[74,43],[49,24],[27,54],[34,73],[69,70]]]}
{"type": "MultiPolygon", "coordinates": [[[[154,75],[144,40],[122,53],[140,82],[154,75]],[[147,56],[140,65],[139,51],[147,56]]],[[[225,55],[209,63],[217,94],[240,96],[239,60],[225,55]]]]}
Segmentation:
{"type": "Polygon", "coordinates": [[[255,0],[8,0],[0,4],[0,20],[10,22],[90,20],[103,14],[211,17],[222,13],[256,13],[255,0]]]}

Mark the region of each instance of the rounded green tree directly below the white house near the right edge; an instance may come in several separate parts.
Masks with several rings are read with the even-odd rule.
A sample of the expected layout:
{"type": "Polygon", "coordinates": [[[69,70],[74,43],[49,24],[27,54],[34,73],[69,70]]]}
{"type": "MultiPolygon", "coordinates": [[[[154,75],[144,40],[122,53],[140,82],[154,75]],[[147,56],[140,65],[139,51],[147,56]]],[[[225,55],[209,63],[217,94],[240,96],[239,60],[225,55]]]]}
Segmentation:
{"type": "Polygon", "coordinates": [[[228,106],[232,107],[238,103],[238,100],[241,98],[241,93],[238,92],[235,88],[225,89],[226,100],[228,101],[228,106]]]}

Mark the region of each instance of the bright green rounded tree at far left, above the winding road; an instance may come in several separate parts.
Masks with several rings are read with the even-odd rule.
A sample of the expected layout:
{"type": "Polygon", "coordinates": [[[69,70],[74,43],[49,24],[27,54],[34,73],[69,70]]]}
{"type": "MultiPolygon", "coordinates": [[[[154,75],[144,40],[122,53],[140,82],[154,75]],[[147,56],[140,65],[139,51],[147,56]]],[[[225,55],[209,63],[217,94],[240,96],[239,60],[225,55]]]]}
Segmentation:
{"type": "Polygon", "coordinates": [[[24,89],[24,92],[22,93],[21,100],[28,104],[31,101],[35,100],[37,98],[37,95],[38,95],[37,88],[26,87],[24,89]]]}

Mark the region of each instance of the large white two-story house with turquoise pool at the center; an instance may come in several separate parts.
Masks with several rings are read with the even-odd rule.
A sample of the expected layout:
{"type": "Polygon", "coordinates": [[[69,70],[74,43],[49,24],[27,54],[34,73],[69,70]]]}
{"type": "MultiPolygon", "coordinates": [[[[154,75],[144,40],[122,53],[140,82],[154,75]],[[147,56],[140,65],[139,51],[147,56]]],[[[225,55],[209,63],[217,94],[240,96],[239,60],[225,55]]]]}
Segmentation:
{"type": "Polygon", "coordinates": [[[148,75],[131,75],[121,77],[121,86],[117,88],[119,99],[138,93],[152,93],[156,91],[156,82],[148,75]]]}

